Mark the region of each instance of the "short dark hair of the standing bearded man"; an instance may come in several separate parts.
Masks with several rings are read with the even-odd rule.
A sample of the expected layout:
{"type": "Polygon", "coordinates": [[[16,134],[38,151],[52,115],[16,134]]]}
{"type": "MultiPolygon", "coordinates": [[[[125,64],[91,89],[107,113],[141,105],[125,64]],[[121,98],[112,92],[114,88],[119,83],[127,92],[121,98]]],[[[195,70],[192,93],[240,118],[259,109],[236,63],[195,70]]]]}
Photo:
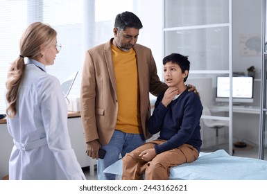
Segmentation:
{"type": "Polygon", "coordinates": [[[140,19],[132,12],[122,12],[119,13],[115,18],[114,27],[119,30],[125,30],[126,28],[143,28],[140,19]]]}

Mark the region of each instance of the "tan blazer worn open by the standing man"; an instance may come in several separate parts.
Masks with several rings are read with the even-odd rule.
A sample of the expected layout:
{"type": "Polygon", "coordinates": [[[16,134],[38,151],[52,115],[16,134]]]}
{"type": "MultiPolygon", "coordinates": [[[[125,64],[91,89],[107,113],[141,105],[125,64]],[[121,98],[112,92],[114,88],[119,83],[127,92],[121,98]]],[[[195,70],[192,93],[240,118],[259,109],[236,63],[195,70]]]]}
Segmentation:
{"type": "MultiPolygon", "coordinates": [[[[80,114],[85,142],[99,139],[101,145],[110,142],[118,114],[111,44],[112,39],[86,52],[80,89],[80,114]]],[[[146,127],[150,116],[149,92],[157,96],[167,86],[157,76],[150,48],[135,44],[134,49],[137,57],[141,126],[148,139],[151,136],[146,127]]]]}

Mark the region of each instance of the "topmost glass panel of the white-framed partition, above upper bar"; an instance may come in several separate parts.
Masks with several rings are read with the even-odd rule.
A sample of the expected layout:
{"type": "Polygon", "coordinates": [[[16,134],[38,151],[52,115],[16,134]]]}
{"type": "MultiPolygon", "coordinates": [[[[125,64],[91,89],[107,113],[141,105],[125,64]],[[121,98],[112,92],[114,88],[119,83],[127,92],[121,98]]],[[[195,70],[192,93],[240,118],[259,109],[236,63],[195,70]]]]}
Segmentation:
{"type": "Polygon", "coordinates": [[[229,1],[165,1],[165,28],[225,24],[229,22],[229,1]]]}

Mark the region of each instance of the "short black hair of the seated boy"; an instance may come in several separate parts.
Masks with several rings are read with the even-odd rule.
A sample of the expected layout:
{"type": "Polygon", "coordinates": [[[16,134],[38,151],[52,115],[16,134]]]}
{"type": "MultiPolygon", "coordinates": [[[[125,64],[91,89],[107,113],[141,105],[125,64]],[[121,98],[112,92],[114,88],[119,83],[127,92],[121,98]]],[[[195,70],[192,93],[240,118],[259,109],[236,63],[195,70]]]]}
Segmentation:
{"type": "MultiPolygon", "coordinates": [[[[182,73],[184,73],[184,71],[186,70],[189,73],[190,62],[188,60],[188,56],[184,56],[178,53],[172,53],[171,55],[168,55],[165,58],[163,58],[162,62],[163,62],[163,65],[165,65],[167,62],[178,64],[180,69],[182,70],[182,73]]],[[[187,78],[188,78],[188,75],[186,78],[184,78],[184,82],[187,81],[187,78]]]]}

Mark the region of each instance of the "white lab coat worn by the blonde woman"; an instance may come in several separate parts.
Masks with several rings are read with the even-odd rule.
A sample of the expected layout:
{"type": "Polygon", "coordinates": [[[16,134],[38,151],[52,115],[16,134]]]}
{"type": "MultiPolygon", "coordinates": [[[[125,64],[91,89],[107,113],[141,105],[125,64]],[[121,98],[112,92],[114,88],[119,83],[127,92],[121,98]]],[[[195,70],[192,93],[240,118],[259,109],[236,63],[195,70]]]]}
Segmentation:
{"type": "Polygon", "coordinates": [[[71,148],[60,82],[35,64],[26,64],[17,114],[8,118],[8,131],[15,142],[9,178],[85,179],[71,148]]]}

